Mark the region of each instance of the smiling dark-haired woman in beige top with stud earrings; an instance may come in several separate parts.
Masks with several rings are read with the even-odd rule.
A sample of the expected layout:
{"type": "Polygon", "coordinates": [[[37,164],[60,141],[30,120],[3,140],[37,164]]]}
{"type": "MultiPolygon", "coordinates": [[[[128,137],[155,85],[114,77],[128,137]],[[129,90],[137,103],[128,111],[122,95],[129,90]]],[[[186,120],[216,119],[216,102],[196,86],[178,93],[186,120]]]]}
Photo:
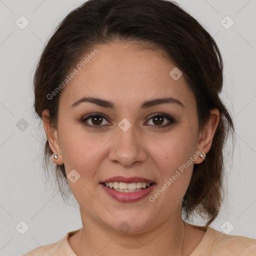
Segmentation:
{"type": "Polygon", "coordinates": [[[222,83],[215,41],[174,2],[89,0],[71,11],[38,62],[34,108],[45,161],[82,228],[25,255],[256,254],[256,239],[208,226],[233,134],[222,83]]]}

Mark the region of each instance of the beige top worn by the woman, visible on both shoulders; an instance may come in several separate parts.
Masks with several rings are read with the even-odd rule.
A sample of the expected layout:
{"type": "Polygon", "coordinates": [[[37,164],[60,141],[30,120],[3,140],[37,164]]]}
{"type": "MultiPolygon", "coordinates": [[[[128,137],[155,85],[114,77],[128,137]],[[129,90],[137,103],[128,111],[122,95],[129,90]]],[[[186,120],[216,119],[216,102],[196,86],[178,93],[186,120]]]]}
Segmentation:
{"type": "MultiPolygon", "coordinates": [[[[190,224],[192,225],[192,224],[190,224]]],[[[192,225],[201,230],[206,230],[202,240],[190,256],[255,256],[256,239],[229,235],[213,229],[212,227],[200,227],[192,225]]],[[[67,237],[80,229],[68,232],[61,240],[37,247],[22,256],[77,256],[71,249],[67,237]]]]}

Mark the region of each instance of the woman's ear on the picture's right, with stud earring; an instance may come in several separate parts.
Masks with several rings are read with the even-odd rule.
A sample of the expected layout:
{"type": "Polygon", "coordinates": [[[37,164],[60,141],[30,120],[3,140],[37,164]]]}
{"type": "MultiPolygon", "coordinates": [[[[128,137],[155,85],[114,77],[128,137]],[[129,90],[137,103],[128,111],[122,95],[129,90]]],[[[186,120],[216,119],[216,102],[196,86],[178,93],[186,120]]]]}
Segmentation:
{"type": "MultiPolygon", "coordinates": [[[[210,109],[210,117],[208,122],[204,125],[198,133],[198,140],[196,152],[204,152],[205,154],[210,150],[213,135],[216,131],[219,121],[219,110],[217,108],[210,109]]],[[[206,155],[207,157],[207,155],[206,155]]],[[[203,159],[199,156],[194,160],[194,163],[201,163],[203,159]]]]}

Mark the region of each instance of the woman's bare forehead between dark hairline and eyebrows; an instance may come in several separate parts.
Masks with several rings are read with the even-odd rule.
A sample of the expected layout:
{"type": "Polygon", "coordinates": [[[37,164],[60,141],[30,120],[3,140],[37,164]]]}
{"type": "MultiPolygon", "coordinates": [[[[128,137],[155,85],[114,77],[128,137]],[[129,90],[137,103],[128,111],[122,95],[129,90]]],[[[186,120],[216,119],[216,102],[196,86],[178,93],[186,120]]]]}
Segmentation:
{"type": "Polygon", "coordinates": [[[170,76],[175,63],[160,50],[127,42],[96,45],[94,49],[98,50],[96,54],[89,51],[81,57],[81,62],[87,57],[86,64],[75,66],[77,73],[61,93],[62,103],[70,106],[83,96],[96,96],[116,105],[140,104],[146,99],[170,96],[185,106],[195,104],[184,77],[174,80],[170,76]]]}

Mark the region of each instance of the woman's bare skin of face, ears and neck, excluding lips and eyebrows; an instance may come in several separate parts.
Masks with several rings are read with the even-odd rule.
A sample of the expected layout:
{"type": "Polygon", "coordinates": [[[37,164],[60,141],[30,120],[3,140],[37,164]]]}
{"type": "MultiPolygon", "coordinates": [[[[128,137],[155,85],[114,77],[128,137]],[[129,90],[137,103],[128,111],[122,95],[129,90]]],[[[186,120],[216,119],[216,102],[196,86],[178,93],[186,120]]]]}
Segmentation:
{"type": "MultiPolygon", "coordinates": [[[[68,182],[79,204],[83,227],[69,236],[68,242],[78,256],[180,255],[181,201],[193,164],[154,202],[148,197],[189,157],[197,151],[209,151],[219,111],[211,109],[208,123],[198,131],[194,94],[183,76],[174,80],[169,75],[175,64],[164,58],[160,50],[120,41],[95,48],[99,52],[61,91],[56,129],[48,123],[47,110],[43,111],[49,146],[58,155],[58,159],[52,156],[52,161],[64,163],[67,174],[75,169],[80,175],[74,183],[69,179],[68,182]],[[71,104],[83,96],[110,100],[116,108],[89,102],[72,108],[71,104]],[[139,109],[145,100],[166,96],[180,100],[184,107],[164,103],[139,109]],[[101,113],[106,119],[96,122],[101,125],[99,128],[86,127],[80,120],[89,113],[101,113]],[[149,117],[157,113],[168,114],[176,122],[160,128],[169,121],[157,123],[149,117]],[[123,118],[131,123],[125,132],[118,127],[123,118]],[[119,202],[99,185],[116,175],[152,179],[156,187],[138,201],[119,202]],[[130,226],[125,233],[118,228],[123,221],[130,226]]],[[[86,123],[93,125],[92,121],[89,118],[86,123]]],[[[194,163],[202,161],[197,157],[194,163]]],[[[183,255],[189,255],[204,234],[205,231],[186,223],[183,255]]]]}

